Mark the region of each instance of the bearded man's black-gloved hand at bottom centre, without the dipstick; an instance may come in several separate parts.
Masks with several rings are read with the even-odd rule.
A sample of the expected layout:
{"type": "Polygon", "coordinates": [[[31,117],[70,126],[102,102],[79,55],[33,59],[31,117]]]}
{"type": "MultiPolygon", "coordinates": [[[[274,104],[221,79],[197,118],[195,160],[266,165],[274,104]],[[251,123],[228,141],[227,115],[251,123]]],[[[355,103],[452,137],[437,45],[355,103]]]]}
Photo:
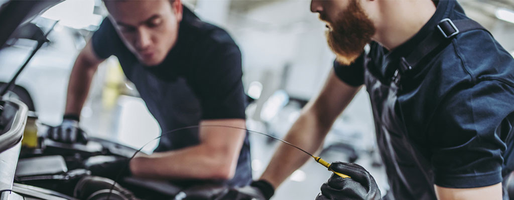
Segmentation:
{"type": "Polygon", "coordinates": [[[249,186],[231,188],[225,195],[216,200],[268,200],[275,189],[264,180],[254,181],[249,186]]]}

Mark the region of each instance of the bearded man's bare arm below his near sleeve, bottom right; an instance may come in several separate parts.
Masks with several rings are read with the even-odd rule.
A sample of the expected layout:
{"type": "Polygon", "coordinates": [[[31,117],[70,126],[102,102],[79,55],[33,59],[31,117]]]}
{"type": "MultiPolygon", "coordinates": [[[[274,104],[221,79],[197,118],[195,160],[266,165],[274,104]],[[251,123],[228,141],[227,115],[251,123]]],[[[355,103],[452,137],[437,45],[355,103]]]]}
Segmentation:
{"type": "Polygon", "coordinates": [[[502,197],[502,183],[480,188],[445,188],[434,185],[439,200],[497,199],[502,197]]]}

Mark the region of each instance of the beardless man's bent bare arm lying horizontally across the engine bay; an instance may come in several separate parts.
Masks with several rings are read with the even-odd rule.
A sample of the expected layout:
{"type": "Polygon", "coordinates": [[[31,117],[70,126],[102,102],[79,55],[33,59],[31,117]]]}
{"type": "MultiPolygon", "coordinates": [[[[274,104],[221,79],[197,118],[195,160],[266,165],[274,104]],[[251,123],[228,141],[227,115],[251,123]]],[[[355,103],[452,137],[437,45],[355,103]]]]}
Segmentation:
{"type": "MultiPolygon", "coordinates": [[[[244,119],[204,120],[200,125],[246,127],[244,119]]],[[[200,127],[199,135],[199,145],[134,158],[130,163],[132,173],[154,179],[231,179],[246,131],[200,127]]]]}

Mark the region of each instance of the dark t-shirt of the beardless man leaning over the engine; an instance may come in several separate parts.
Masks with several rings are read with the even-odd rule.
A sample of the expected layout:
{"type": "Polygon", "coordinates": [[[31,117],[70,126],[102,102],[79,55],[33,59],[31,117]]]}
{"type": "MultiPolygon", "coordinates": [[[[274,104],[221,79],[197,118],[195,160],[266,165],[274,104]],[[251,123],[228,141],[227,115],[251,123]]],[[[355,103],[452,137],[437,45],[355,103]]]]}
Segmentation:
{"type": "MultiPolygon", "coordinates": [[[[199,143],[197,128],[168,134],[170,130],[198,125],[200,120],[245,119],[240,50],[226,31],[201,21],[188,8],[183,8],[175,46],[157,66],[139,63],[108,18],[91,42],[98,57],[118,58],[124,74],[159,123],[162,137],[155,151],[199,143]]],[[[229,185],[251,181],[249,152],[247,137],[229,185]]]]}

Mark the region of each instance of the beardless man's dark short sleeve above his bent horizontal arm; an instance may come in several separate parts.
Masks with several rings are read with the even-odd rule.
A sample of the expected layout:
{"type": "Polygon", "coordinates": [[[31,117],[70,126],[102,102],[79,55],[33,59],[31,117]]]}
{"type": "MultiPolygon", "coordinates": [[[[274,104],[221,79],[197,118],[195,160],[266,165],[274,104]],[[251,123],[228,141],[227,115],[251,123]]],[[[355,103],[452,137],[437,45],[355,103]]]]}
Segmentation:
{"type": "Polygon", "coordinates": [[[235,44],[213,45],[196,79],[202,119],[245,119],[241,52],[235,44]]]}

